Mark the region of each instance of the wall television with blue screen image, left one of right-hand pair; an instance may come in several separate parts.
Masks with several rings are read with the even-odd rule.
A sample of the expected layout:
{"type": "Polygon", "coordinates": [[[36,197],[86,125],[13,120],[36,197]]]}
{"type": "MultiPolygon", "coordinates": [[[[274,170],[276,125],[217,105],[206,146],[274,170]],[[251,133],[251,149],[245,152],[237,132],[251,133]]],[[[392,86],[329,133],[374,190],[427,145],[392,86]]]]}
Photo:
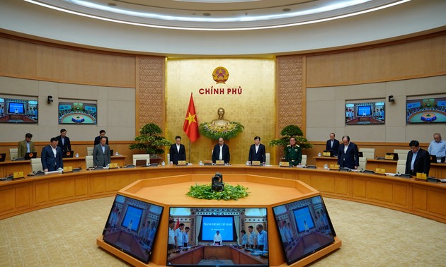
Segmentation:
{"type": "Polygon", "coordinates": [[[345,124],[384,124],[385,102],[345,103],[345,124]]]}

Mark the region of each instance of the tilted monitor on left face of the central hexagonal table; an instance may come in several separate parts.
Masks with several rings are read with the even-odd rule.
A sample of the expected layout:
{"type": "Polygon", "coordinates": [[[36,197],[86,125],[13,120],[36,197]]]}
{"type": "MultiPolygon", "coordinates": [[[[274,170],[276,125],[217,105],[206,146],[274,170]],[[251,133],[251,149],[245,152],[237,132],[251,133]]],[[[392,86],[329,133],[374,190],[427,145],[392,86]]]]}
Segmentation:
{"type": "Polygon", "coordinates": [[[149,263],[162,212],[162,206],[116,195],[102,232],[103,240],[125,254],[149,263]]]}

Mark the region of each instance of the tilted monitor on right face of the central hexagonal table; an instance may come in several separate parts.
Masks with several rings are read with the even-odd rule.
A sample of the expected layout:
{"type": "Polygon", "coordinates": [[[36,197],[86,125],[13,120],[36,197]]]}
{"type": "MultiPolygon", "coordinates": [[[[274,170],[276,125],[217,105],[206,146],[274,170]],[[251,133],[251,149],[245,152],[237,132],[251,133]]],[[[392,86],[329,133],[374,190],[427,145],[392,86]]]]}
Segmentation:
{"type": "Polygon", "coordinates": [[[335,241],[336,233],[321,196],[275,206],[273,213],[288,264],[335,241]]]}

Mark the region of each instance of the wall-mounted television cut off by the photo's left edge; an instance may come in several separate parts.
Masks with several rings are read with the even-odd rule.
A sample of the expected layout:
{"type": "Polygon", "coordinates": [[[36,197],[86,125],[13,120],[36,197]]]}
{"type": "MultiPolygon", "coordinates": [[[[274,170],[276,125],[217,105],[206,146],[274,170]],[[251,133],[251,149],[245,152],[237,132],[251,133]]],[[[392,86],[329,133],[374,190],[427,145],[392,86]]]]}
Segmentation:
{"type": "Polygon", "coordinates": [[[18,99],[0,95],[0,122],[37,124],[38,100],[18,99]]]}

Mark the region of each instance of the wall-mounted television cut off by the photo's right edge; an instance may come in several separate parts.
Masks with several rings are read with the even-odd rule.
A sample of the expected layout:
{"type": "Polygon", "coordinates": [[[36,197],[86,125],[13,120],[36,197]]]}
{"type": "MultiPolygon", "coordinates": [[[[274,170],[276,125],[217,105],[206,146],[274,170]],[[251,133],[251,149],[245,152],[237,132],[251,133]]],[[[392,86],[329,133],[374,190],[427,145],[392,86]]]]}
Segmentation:
{"type": "Polygon", "coordinates": [[[408,124],[431,124],[446,122],[446,96],[423,97],[406,101],[408,124]]]}

